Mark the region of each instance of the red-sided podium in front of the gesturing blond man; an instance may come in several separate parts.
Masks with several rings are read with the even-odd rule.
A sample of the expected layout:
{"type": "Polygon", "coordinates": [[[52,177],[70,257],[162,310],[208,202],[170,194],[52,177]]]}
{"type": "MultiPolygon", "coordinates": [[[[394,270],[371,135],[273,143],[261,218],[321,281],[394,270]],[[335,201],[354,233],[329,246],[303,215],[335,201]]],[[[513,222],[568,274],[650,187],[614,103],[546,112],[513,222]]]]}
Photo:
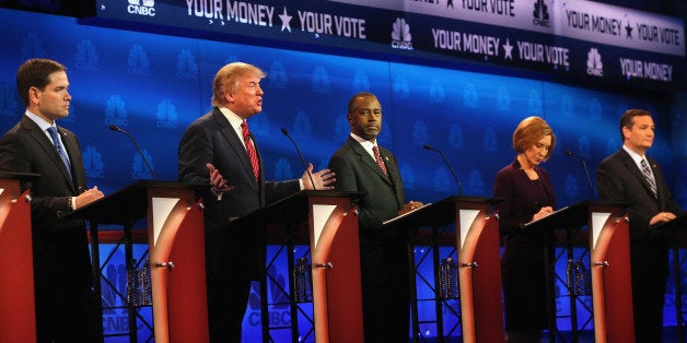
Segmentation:
{"type": "MultiPolygon", "coordinates": [[[[233,221],[230,226],[298,225],[307,221],[311,247],[315,341],[363,342],[358,217],[351,201],[358,192],[304,190],[233,221]]],[[[289,284],[294,285],[293,249],[289,284]]],[[[267,285],[260,285],[263,341],[269,342],[267,285]]],[[[296,312],[293,288],[292,314],[296,312]]],[[[298,338],[296,316],[291,330],[298,338]]],[[[295,339],[294,339],[295,340],[295,339]]],[[[295,342],[295,341],[294,341],[295,342]]]]}

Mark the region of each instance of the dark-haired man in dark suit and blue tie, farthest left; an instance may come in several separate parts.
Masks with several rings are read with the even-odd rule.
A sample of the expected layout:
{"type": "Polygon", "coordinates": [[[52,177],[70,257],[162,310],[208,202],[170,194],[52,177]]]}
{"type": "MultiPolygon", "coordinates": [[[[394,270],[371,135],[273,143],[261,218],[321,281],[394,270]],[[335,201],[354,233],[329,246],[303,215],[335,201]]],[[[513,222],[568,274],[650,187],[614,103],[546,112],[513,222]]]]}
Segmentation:
{"type": "Polygon", "coordinates": [[[103,326],[85,224],[60,217],[103,197],[97,187],[86,190],[77,137],[55,123],[69,116],[66,70],[47,59],[19,68],[16,88],[26,111],[0,139],[0,170],[40,175],[21,185],[32,196],[37,341],[98,342],[103,326]],[[57,132],[55,138],[49,131],[57,132]]]}

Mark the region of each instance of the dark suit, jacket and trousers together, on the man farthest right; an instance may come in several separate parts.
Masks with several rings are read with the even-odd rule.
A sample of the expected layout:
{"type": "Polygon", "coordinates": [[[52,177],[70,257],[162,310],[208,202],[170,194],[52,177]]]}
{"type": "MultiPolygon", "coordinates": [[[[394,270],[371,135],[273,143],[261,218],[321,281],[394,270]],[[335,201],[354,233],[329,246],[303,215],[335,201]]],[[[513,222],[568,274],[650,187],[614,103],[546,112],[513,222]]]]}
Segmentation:
{"type": "Polygon", "coordinates": [[[630,203],[630,267],[632,271],[632,306],[634,339],[638,343],[661,342],[663,303],[668,276],[667,233],[654,230],[651,217],[667,211],[680,214],[656,162],[647,156],[656,181],[654,197],[630,154],[624,149],[606,157],[596,169],[596,187],[604,201],[630,203]]]}

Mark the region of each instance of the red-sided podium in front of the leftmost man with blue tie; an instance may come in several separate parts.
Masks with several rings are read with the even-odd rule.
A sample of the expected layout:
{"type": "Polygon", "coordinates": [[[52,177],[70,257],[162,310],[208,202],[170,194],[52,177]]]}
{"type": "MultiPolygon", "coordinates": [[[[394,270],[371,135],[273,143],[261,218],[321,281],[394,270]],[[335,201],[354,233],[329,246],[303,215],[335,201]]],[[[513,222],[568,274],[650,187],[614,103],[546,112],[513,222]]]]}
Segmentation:
{"type": "MultiPolygon", "coordinates": [[[[98,224],[124,226],[127,271],[132,270],[131,227],[148,217],[155,342],[209,342],[202,185],[142,180],[71,215],[91,223],[93,269],[100,294],[98,224]]],[[[129,339],[137,342],[136,306],[128,303],[129,339]]],[[[100,304],[100,301],[98,301],[100,304]]]]}

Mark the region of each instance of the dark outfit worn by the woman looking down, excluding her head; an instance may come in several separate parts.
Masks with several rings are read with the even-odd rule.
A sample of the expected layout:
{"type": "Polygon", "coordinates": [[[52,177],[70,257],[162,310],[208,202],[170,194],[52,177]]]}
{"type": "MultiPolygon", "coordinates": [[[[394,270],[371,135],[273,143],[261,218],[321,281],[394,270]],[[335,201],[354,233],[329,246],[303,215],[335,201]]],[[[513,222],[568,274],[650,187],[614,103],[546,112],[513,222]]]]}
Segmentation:
{"type": "Polygon", "coordinates": [[[499,170],[493,187],[493,197],[503,199],[496,209],[499,228],[506,237],[501,256],[506,331],[542,330],[548,322],[545,245],[552,243],[554,234],[524,229],[521,224],[532,221],[543,206],[556,209],[556,194],[546,169],[535,166],[534,170],[537,181],[531,180],[514,158],[499,170]]]}

